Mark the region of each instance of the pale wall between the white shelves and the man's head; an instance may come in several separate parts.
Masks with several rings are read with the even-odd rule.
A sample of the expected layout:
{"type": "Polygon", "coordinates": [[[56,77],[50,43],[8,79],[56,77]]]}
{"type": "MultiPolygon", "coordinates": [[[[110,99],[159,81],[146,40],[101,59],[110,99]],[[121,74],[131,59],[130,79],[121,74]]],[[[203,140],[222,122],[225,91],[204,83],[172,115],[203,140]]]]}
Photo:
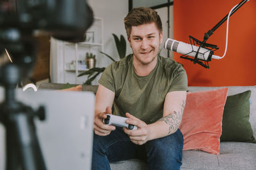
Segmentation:
{"type": "MultiPolygon", "coordinates": [[[[87,2],[92,7],[95,17],[103,18],[105,53],[113,56],[115,60],[119,60],[112,34],[114,33],[118,37],[122,34],[127,39],[124,17],[128,13],[128,0],[88,0],[87,2]]],[[[131,52],[127,41],[126,54],[131,52]]],[[[103,60],[105,61],[105,67],[112,62],[108,57],[104,57],[103,60]]]]}

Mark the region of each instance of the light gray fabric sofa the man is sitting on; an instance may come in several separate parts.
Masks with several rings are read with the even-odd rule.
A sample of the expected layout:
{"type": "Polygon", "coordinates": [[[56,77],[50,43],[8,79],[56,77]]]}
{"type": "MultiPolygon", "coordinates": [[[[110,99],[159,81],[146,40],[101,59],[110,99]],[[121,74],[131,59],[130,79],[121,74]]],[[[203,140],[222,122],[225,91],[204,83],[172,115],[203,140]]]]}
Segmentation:
{"type": "MultiPolygon", "coordinates": [[[[40,89],[61,89],[63,85],[46,83],[40,89]]],[[[221,87],[189,87],[190,92],[218,89],[221,87]]],[[[84,91],[97,91],[95,85],[83,85],[84,91]]],[[[250,106],[250,123],[253,129],[253,136],[256,137],[256,86],[228,87],[228,96],[252,90],[250,106]]],[[[181,169],[256,169],[256,144],[241,142],[221,142],[220,155],[187,150],[183,152],[183,164],[181,169]]],[[[111,163],[111,169],[147,169],[147,164],[141,160],[124,160],[111,163]]]]}

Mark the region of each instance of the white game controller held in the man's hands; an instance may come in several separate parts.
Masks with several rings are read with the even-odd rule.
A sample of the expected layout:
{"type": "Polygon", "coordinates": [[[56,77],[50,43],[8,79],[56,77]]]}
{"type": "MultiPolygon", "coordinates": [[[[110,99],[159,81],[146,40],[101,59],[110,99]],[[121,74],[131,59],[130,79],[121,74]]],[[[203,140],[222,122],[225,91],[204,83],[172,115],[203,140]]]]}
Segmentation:
{"type": "Polygon", "coordinates": [[[125,117],[119,117],[116,115],[107,114],[107,118],[103,119],[103,123],[106,125],[116,125],[119,127],[127,127],[127,129],[129,129],[129,130],[138,129],[138,127],[136,127],[136,125],[129,125],[129,124],[125,123],[125,120],[127,120],[127,119],[128,118],[125,118],[125,117]]]}

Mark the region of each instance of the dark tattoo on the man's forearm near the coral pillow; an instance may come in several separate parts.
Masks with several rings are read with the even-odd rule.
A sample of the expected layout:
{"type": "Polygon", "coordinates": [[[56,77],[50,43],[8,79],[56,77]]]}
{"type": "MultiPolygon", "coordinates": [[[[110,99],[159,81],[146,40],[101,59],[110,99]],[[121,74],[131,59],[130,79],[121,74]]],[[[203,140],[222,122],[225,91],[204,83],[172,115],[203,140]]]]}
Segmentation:
{"type": "Polygon", "coordinates": [[[168,135],[173,134],[179,128],[185,105],[186,105],[186,99],[182,101],[182,104],[180,106],[180,111],[173,111],[173,113],[171,113],[170,115],[167,115],[166,117],[160,118],[158,120],[159,122],[165,122],[167,125],[169,125],[168,135]]]}

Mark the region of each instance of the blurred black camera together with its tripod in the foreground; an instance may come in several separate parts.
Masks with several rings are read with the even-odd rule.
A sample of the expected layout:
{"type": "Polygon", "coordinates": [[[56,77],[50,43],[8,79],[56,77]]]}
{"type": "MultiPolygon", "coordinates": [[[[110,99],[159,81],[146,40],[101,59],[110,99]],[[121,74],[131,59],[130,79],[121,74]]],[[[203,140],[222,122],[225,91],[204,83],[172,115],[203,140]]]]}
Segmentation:
{"type": "Polygon", "coordinates": [[[0,85],[5,98],[0,122],[6,129],[6,169],[46,169],[36,136],[34,117],[44,120],[44,107],[33,111],[15,100],[15,87],[33,69],[36,60],[35,31],[54,38],[83,41],[92,25],[93,12],[85,0],[0,1],[0,53],[8,50],[13,63],[0,63],[0,85]]]}

